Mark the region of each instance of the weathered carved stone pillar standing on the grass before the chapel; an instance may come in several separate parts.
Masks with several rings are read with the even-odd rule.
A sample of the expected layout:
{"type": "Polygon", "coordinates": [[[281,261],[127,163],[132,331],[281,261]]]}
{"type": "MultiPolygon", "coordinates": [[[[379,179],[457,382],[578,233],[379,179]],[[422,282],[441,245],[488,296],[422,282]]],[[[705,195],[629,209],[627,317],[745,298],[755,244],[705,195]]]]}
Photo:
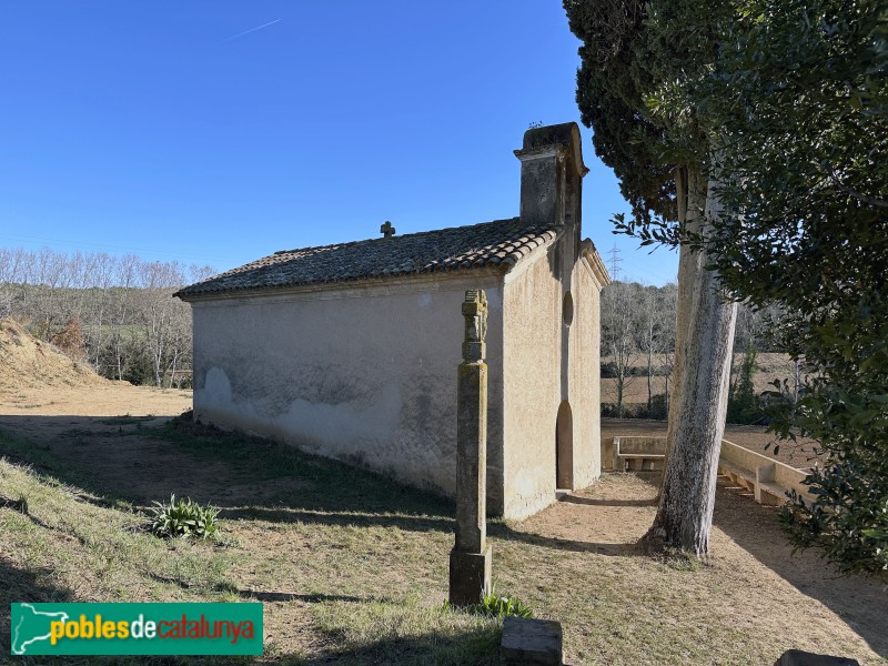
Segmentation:
{"type": "Polygon", "coordinates": [[[487,296],[465,292],[465,340],[456,387],[456,545],[451,551],[454,606],[480,601],[491,588],[491,546],[486,534],[487,496],[487,296]]]}

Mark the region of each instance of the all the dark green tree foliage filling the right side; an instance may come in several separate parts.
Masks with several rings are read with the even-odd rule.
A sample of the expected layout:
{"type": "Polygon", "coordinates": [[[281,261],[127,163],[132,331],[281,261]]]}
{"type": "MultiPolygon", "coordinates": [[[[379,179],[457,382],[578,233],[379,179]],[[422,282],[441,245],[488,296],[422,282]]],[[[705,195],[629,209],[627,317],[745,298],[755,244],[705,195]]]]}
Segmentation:
{"type": "Polygon", "coordinates": [[[775,339],[809,371],[766,406],[817,440],[796,547],[885,575],[888,503],[888,9],[880,0],[565,0],[585,43],[583,120],[643,244],[705,246],[737,300],[783,311],[775,339]],[[706,238],[674,224],[670,168],[716,174],[706,238]],[[633,170],[642,172],[633,174],[633,170]],[[666,200],[664,200],[664,198],[666,200]],[[679,231],[682,233],[679,233],[679,231]],[[796,398],[797,397],[797,398],[796,398]]]}

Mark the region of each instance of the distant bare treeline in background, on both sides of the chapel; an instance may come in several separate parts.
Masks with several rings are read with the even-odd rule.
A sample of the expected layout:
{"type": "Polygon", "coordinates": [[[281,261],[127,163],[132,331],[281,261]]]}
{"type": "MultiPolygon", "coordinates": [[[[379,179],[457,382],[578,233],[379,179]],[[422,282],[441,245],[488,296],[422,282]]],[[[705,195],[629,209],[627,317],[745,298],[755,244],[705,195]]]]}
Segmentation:
{"type": "MultiPolygon", "coordinates": [[[[0,317],[91,363],[102,376],[134,384],[190,386],[191,312],[172,297],[214,273],[209,266],[128,254],[0,249],[0,317]]],[[[675,284],[614,282],[602,292],[603,412],[665,417],[675,353],[675,284]],[[647,382],[647,403],[629,411],[626,383],[647,382]],[[643,380],[644,377],[644,380],[643,380]],[[657,384],[655,377],[662,377],[657,384]],[[659,390],[657,390],[657,386],[659,390]]],[[[740,306],[735,351],[773,349],[776,312],[740,306]]]]}

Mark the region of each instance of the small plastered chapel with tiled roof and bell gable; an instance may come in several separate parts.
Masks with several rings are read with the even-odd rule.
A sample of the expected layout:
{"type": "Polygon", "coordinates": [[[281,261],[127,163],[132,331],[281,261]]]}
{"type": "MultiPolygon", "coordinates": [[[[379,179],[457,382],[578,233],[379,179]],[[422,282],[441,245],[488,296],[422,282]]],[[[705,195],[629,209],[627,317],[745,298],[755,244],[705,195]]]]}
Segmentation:
{"type": "Polygon", "coordinates": [[[599,293],[575,123],[534,128],[521,214],[275,252],[178,292],[194,418],[453,495],[465,291],[487,294],[487,507],[522,518],[601,474],[599,293]]]}

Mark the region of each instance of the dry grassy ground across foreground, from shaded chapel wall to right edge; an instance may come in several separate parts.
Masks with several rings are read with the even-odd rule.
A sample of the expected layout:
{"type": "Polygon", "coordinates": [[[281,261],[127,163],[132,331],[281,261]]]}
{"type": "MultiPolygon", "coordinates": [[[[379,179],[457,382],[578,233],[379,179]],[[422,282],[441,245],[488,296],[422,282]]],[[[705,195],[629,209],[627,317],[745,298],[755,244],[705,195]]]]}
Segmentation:
{"type": "MultiPolygon", "coordinates": [[[[498,620],[442,608],[451,503],[282,444],[154,423],[0,431],[0,655],[10,602],[261,601],[260,662],[497,663],[498,620]],[[218,542],[143,529],[170,492],[221,508],[218,542]]],[[[655,492],[612,476],[491,524],[497,589],[563,623],[567,663],[773,664],[790,647],[884,663],[885,591],[775,555],[773,512],[727,488],[710,564],[648,558],[635,541],[655,492]]]]}

